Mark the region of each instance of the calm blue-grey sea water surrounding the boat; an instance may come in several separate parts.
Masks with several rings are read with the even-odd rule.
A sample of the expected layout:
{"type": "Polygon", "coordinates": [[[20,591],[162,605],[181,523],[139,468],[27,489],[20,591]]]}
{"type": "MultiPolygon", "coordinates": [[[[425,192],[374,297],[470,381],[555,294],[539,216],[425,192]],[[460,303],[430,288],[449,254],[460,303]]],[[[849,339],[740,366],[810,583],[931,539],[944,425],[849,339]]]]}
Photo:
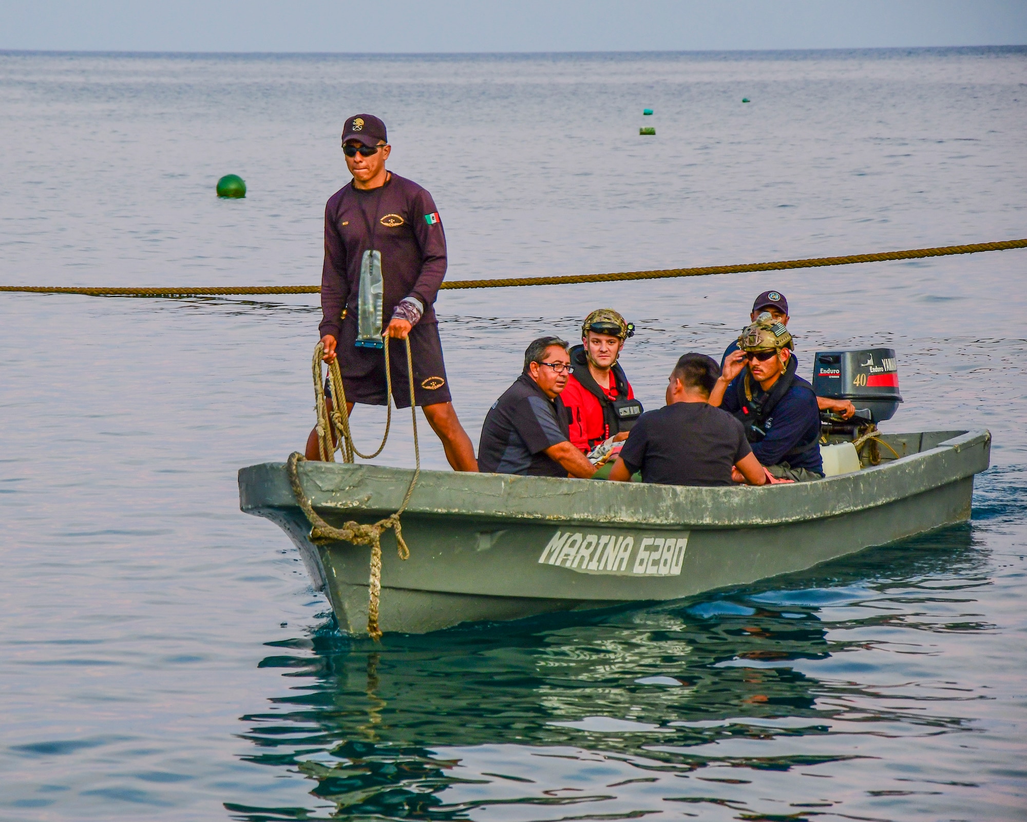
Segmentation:
{"type": "MultiPolygon", "coordinates": [[[[0,281],[316,283],[358,111],[433,193],[454,278],[1027,235],[1025,48],[0,53],[0,281]],[[244,200],[215,197],[228,173],[244,200]]],[[[1011,251],[444,293],[476,442],[532,337],[618,307],[658,406],[776,288],[807,368],[892,345],[887,427],[988,426],[993,466],[969,524],[804,573],[380,645],[238,512],[237,469],[310,427],[314,300],[0,295],[0,818],[1024,818],[1025,273],[1011,251]]],[[[382,415],[354,421],[368,443],[382,415]]],[[[413,460],[401,422],[383,462],[413,460]]]]}

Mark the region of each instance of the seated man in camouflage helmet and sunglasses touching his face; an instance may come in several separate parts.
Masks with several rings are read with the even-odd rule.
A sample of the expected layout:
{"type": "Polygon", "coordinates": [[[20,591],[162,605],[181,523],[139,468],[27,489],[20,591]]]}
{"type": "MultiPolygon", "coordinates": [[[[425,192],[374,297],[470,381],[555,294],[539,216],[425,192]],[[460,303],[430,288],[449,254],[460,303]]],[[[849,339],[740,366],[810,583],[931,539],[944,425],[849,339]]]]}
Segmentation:
{"type": "MultiPolygon", "coordinates": [[[[710,405],[740,420],[771,477],[822,479],[821,414],[813,386],[795,373],[792,335],[783,323],[758,320],[743,330],[738,348],[724,360],[710,405]]],[[[736,471],[732,477],[743,481],[736,471]]]]}

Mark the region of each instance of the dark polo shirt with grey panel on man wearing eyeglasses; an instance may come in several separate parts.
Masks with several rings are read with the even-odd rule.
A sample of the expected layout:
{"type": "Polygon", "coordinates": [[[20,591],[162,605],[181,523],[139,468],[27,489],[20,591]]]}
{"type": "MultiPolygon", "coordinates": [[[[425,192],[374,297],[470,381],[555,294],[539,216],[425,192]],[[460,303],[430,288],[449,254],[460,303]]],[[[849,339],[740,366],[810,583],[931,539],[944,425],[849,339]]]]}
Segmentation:
{"type": "Polygon", "coordinates": [[[490,474],[566,477],[567,469],[545,449],[569,441],[564,404],[546,397],[524,372],[485,416],[478,468],[490,474]]]}

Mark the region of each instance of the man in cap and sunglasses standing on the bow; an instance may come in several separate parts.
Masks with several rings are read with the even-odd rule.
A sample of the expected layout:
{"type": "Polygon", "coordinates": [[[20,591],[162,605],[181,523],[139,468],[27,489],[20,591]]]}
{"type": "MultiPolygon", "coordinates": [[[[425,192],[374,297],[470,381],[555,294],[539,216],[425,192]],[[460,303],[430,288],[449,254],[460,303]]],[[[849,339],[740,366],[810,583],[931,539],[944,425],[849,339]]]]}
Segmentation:
{"type": "MultiPolygon", "coordinates": [[[[457,418],[446,379],[432,307],[446,276],[446,235],[431,195],[385,170],[392,147],[385,123],[371,114],[346,120],[342,149],[353,179],[325,209],[325,266],[319,331],[326,363],[339,358],[346,410],[387,405],[382,336],[389,350],[396,408],[421,406],[455,471],[478,471],[474,448],[457,418]],[[363,291],[363,293],[362,293],[363,291]],[[362,305],[364,310],[362,311],[362,305]],[[382,319],[389,317],[382,331],[382,319]],[[410,337],[414,397],[403,340],[410,337]]],[[[331,397],[327,397],[331,412],[331,397]]],[[[331,423],[330,423],[331,424],[331,423]]],[[[336,441],[336,432],[332,440],[336,441]]],[[[307,459],[318,459],[317,433],[307,459]]]]}

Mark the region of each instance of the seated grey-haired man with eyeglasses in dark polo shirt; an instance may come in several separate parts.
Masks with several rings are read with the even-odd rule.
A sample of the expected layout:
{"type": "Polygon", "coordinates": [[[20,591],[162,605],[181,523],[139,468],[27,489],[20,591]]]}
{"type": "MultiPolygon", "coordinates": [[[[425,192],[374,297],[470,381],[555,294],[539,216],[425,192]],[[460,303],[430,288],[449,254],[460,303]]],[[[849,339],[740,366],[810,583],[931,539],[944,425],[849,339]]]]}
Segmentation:
{"type": "Polygon", "coordinates": [[[593,464],[571,445],[560,395],[570,375],[567,343],[539,337],[524,352],[524,371],[492,404],[482,424],[479,466],[493,474],[588,479],[593,464]]]}

